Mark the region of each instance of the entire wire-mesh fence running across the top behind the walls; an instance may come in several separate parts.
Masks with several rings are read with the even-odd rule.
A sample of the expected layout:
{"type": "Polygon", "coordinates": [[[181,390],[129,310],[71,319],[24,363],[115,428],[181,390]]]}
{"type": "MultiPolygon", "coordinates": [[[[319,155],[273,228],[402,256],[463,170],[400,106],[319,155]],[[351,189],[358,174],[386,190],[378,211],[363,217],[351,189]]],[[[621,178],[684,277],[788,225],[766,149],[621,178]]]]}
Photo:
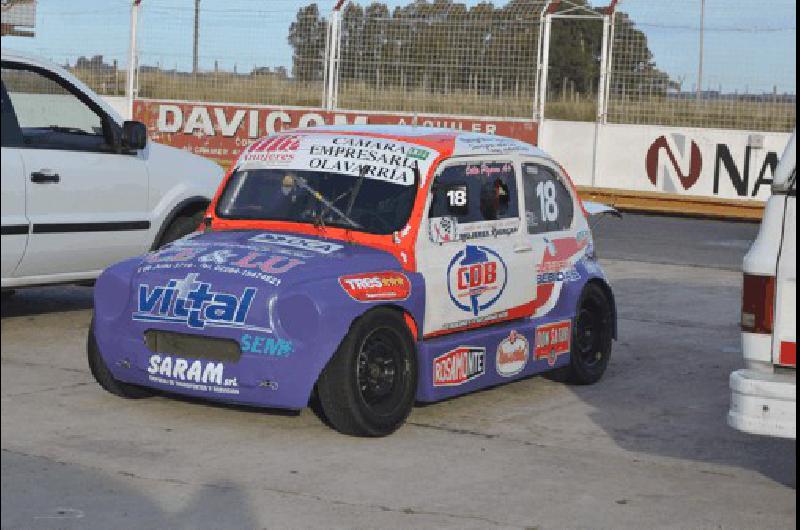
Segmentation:
{"type": "MultiPolygon", "coordinates": [[[[337,3],[143,0],[136,94],[323,105],[337,3]]],[[[348,1],[338,15],[335,106],[534,116],[543,9],[601,13],[609,3],[348,1]]],[[[67,66],[100,94],[124,95],[131,4],[40,2],[36,36],[3,37],[3,46],[24,41],[24,49],[67,66]]],[[[546,118],[596,119],[602,29],[596,19],[553,20],[541,94],[546,118]]],[[[609,122],[794,127],[793,0],[621,0],[609,45],[609,122]]]]}

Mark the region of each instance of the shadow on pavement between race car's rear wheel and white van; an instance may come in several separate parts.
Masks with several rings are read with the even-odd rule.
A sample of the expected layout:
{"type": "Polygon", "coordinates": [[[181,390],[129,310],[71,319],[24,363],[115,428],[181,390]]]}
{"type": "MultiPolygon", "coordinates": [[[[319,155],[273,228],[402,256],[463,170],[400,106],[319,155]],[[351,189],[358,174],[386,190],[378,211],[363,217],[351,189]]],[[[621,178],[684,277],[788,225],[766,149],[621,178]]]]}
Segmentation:
{"type": "Polygon", "coordinates": [[[652,279],[614,288],[620,340],[609,369],[597,385],[572,387],[595,409],[592,420],[628,451],[752,469],[796,487],[794,440],[727,425],[728,377],[744,365],[739,289],[652,279]]]}

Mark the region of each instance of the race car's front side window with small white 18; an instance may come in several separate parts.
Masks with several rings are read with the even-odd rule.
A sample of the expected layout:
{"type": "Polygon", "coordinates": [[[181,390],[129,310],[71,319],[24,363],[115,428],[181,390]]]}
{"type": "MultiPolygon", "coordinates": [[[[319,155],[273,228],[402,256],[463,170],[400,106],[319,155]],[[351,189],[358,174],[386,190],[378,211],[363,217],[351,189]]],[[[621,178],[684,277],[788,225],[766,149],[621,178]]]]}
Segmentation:
{"type": "Polygon", "coordinates": [[[467,162],[445,167],[433,185],[429,217],[459,224],[519,217],[511,162],[467,162]]]}

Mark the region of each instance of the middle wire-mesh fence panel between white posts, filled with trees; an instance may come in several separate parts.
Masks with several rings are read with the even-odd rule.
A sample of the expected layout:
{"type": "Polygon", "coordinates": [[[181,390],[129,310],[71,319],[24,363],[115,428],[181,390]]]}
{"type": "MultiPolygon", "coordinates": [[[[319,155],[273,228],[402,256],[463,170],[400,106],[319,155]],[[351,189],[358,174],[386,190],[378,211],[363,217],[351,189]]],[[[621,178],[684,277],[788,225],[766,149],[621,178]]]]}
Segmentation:
{"type": "Polygon", "coordinates": [[[338,106],[530,117],[544,0],[409,2],[341,13],[338,106]]]}

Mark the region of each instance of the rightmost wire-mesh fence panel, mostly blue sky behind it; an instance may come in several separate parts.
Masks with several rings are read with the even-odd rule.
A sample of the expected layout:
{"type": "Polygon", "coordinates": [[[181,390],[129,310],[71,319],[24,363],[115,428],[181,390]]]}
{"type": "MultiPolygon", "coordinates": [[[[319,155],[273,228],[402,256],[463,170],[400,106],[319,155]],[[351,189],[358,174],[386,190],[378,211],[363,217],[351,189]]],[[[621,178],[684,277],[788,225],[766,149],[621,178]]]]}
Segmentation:
{"type": "Polygon", "coordinates": [[[623,0],[609,121],[791,130],[796,33],[794,0],[623,0]]]}

